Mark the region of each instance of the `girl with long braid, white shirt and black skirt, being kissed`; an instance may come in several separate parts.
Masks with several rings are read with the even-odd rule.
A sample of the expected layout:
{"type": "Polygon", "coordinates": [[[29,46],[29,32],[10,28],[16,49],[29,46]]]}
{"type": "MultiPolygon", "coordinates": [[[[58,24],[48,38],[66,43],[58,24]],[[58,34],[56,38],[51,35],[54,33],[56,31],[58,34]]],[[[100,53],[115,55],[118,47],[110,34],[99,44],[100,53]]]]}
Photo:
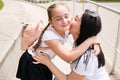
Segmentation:
{"type": "Polygon", "coordinates": [[[68,51],[63,46],[68,38],[71,25],[68,7],[63,3],[57,3],[51,5],[47,11],[50,24],[43,30],[35,45],[32,46],[34,49],[29,48],[21,56],[17,72],[17,77],[21,80],[52,80],[52,72],[47,66],[33,64],[32,56],[34,52],[45,52],[50,58],[53,58],[56,54],[70,62],[77,59],[96,40],[96,37],[91,37],[77,48],[68,51]]]}

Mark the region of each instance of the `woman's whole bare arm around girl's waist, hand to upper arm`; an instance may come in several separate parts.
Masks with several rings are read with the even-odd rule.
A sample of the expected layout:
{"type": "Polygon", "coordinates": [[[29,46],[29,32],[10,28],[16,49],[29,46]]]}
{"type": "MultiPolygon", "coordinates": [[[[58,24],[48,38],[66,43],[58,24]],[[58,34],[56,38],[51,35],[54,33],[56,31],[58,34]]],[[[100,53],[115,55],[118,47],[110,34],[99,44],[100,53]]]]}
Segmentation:
{"type": "Polygon", "coordinates": [[[38,52],[35,52],[33,58],[36,60],[36,62],[33,62],[34,64],[42,63],[46,65],[55,75],[57,80],[83,80],[85,78],[85,75],[79,75],[74,71],[71,71],[70,74],[66,76],[53,64],[50,57],[45,53],[39,54],[38,52]]]}

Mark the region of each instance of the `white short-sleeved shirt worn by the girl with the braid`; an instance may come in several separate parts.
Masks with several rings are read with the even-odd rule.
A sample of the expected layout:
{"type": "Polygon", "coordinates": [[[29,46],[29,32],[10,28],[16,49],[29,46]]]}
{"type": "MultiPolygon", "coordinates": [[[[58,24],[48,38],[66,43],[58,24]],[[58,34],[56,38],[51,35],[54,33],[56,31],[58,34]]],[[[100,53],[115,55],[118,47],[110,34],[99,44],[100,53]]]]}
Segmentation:
{"type": "MultiPolygon", "coordinates": [[[[62,36],[60,36],[57,31],[53,28],[53,26],[49,26],[46,31],[43,33],[43,36],[42,36],[42,42],[41,42],[41,45],[40,47],[48,47],[48,45],[45,44],[44,41],[47,41],[47,40],[60,40],[60,42],[62,44],[65,43],[65,41],[67,40],[68,38],[68,31],[65,32],[65,37],[63,38],[62,36]]],[[[37,41],[36,41],[37,42],[37,41]]],[[[35,42],[35,43],[36,43],[35,42]]],[[[35,44],[34,43],[34,44],[35,44]]],[[[56,44],[57,46],[57,44],[56,44]]],[[[55,53],[51,50],[51,49],[48,49],[48,50],[37,50],[39,53],[40,52],[44,52],[46,54],[48,54],[50,56],[50,58],[54,58],[55,57],[55,53]]],[[[33,51],[28,49],[28,53],[31,54],[31,55],[34,55],[33,54],[33,51]]]]}

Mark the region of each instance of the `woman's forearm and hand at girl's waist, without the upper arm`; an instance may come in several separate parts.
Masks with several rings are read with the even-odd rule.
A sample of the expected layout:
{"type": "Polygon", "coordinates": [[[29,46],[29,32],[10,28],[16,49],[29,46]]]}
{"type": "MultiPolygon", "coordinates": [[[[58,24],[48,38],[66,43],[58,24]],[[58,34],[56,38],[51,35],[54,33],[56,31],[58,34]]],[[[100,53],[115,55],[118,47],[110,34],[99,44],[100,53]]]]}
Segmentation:
{"type": "Polygon", "coordinates": [[[39,64],[42,63],[44,65],[46,65],[51,71],[52,73],[55,75],[55,77],[57,78],[57,80],[66,80],[66,75],[61,72],[50,60],[50,57],[45,54],[39,54],[39,53],[35,53],[35,55],[33,56],[33,58],[37,61],[37,62],[33,62],[34,64],[39,64]]]}

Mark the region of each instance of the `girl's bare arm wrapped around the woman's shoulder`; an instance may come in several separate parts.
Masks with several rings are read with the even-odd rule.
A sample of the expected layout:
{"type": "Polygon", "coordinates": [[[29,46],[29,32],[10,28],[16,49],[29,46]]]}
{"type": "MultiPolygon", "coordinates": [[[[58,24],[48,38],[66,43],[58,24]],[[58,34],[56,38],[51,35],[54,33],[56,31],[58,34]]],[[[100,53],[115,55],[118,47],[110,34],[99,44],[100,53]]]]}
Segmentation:
{"type": "Polygon", "coordinates": [[[56,53],[56,55],[58,55],[63,60],[70,62],[74,61],[80,55],[82,55],[88,49],[88,47],[95,42],[95,40],[95,36],[90,37],[71,51],[69,51],[63,44],[61,44],[59,40],[49,40],[45,41],[45,43],[56,53]]]}

